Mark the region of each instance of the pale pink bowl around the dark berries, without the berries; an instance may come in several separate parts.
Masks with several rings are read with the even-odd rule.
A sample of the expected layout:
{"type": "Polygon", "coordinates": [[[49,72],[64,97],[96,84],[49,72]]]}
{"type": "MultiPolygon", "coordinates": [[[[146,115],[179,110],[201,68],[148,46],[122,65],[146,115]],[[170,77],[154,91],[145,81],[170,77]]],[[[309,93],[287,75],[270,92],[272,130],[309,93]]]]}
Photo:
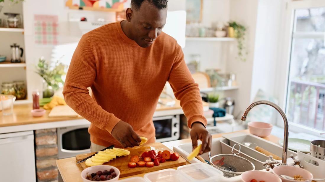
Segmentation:
{"type": "Polygon", "coordinates": [[[117,181],[119,180],[120,177],[120,170],[114,166],[111,165],[95,165],[95,166],[90,166],[85,168],[82,172],[81,172],[81,178],[84,182],[93,182],[91,180],[86,179],[86,175],[91,174],[91,173],[96,173],[97,171],[104,171],[104,170],[108,170],[110,171],[110,169],[113,168],[115,173],[116,173],[116,177],[114,177],[113,179],[110,180],[106,180],[106,181],[117,181]]]}

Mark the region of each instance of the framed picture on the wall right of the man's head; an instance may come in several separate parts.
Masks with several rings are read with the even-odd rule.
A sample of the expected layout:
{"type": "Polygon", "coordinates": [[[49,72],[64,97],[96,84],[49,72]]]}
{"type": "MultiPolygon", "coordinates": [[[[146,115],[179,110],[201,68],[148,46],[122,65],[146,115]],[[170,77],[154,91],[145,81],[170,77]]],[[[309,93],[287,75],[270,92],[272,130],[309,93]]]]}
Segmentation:
{"type": "Polygon", "coordinates": [[[202,21],[203,0],[186,0],[186,23],[202,21]]]}

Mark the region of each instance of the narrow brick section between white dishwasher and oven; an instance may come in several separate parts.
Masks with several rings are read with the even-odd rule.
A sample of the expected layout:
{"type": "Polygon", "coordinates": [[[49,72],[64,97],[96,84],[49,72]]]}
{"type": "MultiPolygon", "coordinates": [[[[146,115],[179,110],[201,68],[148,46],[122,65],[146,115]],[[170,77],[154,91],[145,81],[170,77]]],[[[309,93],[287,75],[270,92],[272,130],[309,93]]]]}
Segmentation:
{"type": "Polygon", "coordinates": [[[35,130],[35,146],[37,182],[57,182],[57,129],[35,130]]]}

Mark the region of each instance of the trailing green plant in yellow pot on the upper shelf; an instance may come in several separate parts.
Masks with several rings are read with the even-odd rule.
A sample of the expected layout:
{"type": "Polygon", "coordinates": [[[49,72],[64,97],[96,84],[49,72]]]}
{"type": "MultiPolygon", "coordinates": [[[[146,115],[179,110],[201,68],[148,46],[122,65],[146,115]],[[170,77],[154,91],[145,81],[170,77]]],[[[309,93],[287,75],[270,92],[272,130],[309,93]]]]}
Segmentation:
{"type": "Polygon", "coordinates": [[[245,51],[245,44],[244,44],[246,28],[235,21],[230,21],[228,23],[229,23],[230,30],[233,29],[234,31],[234,32],[228,32],[228,34],[233,34],[232,37],[236,38],[238,41],[237,44],[238,58],[241,61],[246,61],[245,55],[247,54],[247,52],[245,51]]]}

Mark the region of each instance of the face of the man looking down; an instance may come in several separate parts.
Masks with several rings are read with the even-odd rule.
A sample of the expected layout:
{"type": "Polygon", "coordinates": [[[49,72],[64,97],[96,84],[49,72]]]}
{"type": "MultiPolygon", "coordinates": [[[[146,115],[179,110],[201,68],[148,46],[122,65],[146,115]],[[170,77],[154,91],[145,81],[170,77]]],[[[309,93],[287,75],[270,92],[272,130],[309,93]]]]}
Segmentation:
{"type": "Polygon", "coordinates": [[[167,8],[158,9],[143,1],[139,9],[132,11],[130,24],[133,40],[141,47],[149,47],[162,32],[166,17],[167,8]]]}

